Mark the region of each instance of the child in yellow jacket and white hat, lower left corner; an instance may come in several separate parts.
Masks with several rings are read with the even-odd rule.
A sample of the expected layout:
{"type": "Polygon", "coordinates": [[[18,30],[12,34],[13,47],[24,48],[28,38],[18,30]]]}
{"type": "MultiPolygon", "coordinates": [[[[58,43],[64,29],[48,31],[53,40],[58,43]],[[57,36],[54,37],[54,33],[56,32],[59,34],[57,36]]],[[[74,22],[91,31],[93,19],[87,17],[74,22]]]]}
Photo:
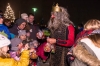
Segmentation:
{"type": "MultiPolygon", "coordinates": [[[[9,57],[7,51],[9,50],[10,40],[0,34],[0,66],[28,66],[29,51],[27,48],[21,53],[20,61],[16,61],[9,57]]],[[[30,52],[32,52],[31,50],[30,52]]]]}

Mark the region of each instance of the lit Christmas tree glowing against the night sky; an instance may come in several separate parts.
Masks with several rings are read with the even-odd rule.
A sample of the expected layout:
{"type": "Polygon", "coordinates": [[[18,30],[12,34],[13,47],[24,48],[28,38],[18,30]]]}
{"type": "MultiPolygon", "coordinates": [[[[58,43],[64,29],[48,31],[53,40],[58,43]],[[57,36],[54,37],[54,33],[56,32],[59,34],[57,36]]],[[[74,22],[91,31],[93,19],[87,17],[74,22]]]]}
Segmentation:
{"type": "Polygon", "coordinates": [[[4,13],[4,17],[7,19],[10,19],[11,22],[14,22],[14,20],[15,20],[14,12],[13,12],[12,8],[10,7],[9,3],[8,3],[6,11],[4,13]]]}

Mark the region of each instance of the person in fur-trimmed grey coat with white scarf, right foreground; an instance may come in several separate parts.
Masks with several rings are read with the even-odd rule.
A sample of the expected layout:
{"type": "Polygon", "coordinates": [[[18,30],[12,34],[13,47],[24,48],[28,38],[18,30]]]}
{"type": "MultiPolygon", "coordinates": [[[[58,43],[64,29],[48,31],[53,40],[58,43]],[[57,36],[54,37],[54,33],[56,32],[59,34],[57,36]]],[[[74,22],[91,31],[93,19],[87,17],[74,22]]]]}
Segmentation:
{"type": "Polygon", "coordinates": [[[100,65],[100,34],[92,33],[73,48],[76,57],[71,66],[99,66],[100,65]]]}

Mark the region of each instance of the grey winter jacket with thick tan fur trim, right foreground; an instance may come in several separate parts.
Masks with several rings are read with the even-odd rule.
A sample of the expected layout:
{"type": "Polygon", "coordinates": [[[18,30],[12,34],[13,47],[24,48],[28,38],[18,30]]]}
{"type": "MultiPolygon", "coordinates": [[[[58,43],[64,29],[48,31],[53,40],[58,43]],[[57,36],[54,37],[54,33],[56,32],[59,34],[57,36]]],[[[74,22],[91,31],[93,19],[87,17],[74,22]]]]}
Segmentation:
{"type": "Polygon", "coordinates": [[[83,42],[79,42],[73,48],[73,54],[76,58],[71,63],[71,66],[100,66],[100,60],[90,47],[83,42]]]}

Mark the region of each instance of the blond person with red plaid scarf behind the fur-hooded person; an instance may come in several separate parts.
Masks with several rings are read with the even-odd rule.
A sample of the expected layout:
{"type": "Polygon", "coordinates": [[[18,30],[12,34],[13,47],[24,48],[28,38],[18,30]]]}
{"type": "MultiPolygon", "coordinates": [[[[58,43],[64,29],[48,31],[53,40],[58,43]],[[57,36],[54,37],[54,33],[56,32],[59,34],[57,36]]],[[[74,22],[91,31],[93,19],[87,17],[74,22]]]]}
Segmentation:
{"type": "MultiPolygon", "coordinates": [[[[88,20],[86,22],[86,24],[84,25],[84,30],[77,34],[73,47],[77,44],[77,42],[81,38],[86,37],[87,35],[91,34],[94,30],[99,29],[99,28],[100,28],[100,21],[99,20],[97,20],[97,19],[88,20]]],[[[73,47],[67,53],[69,64],[72,64],[74,61],[74,56],[72,56],[73,55],[72,54],[73,47]]]]}

